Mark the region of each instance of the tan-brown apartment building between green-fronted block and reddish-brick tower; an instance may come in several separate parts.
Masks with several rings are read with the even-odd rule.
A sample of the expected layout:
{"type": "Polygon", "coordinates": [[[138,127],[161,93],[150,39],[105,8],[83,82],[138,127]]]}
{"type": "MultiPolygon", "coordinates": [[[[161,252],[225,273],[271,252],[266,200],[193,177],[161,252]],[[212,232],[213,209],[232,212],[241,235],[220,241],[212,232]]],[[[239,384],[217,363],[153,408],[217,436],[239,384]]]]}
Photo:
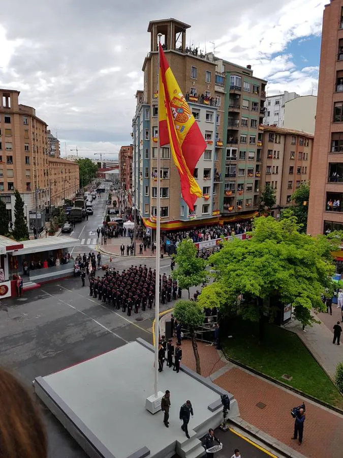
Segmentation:
{"type": "MultiPolygon", "coordinates": [[[[271,215],[292,205],[291,196],[311,177],[313,135],[298,130],[260,126],[263,132],[261,166],[256,175],[261,178],[260,192],[268,183],[274,190],[276,204],[271,215]]],[[[251,185],[250,185],[251,187],[251,185]]]]}

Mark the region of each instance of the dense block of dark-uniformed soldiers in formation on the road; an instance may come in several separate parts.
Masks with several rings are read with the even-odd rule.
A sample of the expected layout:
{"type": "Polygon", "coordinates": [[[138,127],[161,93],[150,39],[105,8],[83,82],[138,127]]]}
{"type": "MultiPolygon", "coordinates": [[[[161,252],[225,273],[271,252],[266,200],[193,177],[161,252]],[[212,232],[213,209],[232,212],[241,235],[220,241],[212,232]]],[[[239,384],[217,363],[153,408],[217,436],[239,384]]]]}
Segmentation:
{"type": "MultiPolygon", "coordinates": [[[[89,278],[89,296],[108,304],[112,308],[138,313],[141,309],[152,308],[155,298],[156,271],[146,265],[131,266],[119,273],[116,269],[106,269],[103,277],[89,278]]],[[[181,297],[177,282],[165,274],[160,274],[160,300],[163,304],[181,297]]]]}

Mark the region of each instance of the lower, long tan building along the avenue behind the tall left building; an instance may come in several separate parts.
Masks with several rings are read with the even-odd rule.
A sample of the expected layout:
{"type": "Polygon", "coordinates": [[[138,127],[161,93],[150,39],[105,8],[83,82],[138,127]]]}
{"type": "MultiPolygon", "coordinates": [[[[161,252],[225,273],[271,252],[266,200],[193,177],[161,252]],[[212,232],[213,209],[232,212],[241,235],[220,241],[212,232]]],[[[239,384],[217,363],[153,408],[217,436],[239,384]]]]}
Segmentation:
{"type": "Polygon", "coordinates": [[[50,205],[63,205],[72,200],[80,188],[79,165],[75,161],[49,157],[50,205]]]}

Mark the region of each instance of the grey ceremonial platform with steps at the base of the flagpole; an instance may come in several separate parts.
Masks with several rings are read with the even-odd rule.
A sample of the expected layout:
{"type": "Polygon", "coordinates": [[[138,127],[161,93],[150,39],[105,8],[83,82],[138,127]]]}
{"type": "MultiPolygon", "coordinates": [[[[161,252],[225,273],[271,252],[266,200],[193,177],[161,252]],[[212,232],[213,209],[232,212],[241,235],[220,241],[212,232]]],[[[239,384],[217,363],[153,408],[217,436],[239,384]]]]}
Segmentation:
{"type": "MultiPolygon", "coordinates": [[[[181,366],[182,367],[182,366],[181,366]]],[[[198,458],[204,453],[198,438],[223,419],[221,394],[231,399],[229,416],[239,415],[233,395],[182,367],[179,374],[165,367],[159,390],[170,390],[170,424],[163,413],[145,409],[153,394],[153,347],[137,339],[96,358],[35,380],[36,394],[91,458],[198,458]],[[179,420],[180,407],[192,402],[190,439],[179,420]]]]}

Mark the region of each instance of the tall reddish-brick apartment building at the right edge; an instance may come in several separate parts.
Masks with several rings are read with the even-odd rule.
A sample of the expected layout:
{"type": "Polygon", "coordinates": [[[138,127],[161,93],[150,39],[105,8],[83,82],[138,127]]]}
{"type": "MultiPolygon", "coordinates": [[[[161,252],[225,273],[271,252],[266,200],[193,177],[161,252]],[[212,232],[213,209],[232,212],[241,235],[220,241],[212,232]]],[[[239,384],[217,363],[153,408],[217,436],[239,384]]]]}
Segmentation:
{"type": "Polygon", "coordinates": [[[343,230],[342,191],[343,0],[332,0],[323,16],[308,234],[343,230]]]}

